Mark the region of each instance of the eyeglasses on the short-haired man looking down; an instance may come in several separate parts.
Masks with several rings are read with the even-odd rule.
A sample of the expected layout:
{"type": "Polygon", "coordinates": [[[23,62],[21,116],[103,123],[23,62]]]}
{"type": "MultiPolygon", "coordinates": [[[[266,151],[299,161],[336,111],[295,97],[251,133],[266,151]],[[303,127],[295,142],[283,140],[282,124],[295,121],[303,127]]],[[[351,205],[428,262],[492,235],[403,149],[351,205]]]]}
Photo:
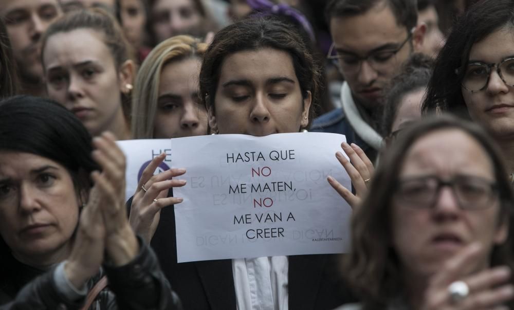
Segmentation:
{"type": "Polygon", "coordinates": [[[413,28],[407,39],[403,41],[397,48],[394,49],[384,49],[375,52],[371,52],[368,56],[359,57],[354,55],[333,55],[335,43],[332,43],[330,49],[328,50],[327,59],[335,62],[335,65],[341,70],[343,74],[356,74],[360,71],[362,62],[366,61],[368,64],[376,71],[383,71],[387,69],[391,65],[391,60],[394,58],[396,53],[398,53],[403,46],[409,42],[412,38],[412,33],[414,33],[413,28]]]}

